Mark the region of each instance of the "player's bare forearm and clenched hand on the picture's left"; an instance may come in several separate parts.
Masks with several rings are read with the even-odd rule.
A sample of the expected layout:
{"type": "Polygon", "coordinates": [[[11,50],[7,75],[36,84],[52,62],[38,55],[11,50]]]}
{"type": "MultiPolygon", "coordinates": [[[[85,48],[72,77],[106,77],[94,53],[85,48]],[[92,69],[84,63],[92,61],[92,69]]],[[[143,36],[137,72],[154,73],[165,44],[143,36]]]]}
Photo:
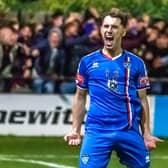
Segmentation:
{"type": "Polygon", "coordinates": [[[72,105],[72,130],[64,137],[69,145],[79,145],[81,143],[81,125],[85,116],[87,90],[77,87],[72,105]]]}

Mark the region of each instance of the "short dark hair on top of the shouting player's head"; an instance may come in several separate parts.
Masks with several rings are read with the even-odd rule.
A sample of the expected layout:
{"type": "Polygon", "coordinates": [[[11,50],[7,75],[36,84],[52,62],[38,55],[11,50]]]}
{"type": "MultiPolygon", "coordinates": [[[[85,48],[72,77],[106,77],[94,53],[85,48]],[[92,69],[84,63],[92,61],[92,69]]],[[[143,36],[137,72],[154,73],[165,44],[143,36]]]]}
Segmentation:
{"type": "Polygon", "coordinates": [[[106,16],[111,16],[111,17],[116,17],[120,18],[121,24],[126,27],[129,14],[127,12],[124,12],[118,8],[112,8],[110,11],[106,12],[102,17],[101,17],[101,22],[103,22],[104,18],[106,16]]]}

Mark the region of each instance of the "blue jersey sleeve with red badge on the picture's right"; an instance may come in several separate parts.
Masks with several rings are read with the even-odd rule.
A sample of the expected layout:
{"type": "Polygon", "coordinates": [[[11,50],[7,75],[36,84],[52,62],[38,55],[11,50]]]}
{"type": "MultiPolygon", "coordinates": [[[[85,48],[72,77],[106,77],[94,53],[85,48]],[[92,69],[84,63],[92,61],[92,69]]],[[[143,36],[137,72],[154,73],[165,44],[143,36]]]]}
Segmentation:
{"type": "Polygon", "coordinates": [[[136,88],[137,89],[150,88],[149,77],[147,74],[145,63],[143,61],[139,62],[136,88]]]}

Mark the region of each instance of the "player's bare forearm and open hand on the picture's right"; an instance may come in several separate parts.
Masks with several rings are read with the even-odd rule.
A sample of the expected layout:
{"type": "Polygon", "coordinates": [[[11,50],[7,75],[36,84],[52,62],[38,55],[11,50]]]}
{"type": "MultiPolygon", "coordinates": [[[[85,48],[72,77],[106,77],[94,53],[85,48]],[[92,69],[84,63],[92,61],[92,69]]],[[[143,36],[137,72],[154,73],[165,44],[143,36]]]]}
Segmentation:
{"type": "Polygon", "coordinates": [[[163,140],[154,137],[151,134],[149,103],[147,100],[146,89],[138,90],[138,95],[142,104],[141,130],[144,137],[145,145],[149,150],[151,150],[156,148],[157,142],[162,142],[163,140]]]}

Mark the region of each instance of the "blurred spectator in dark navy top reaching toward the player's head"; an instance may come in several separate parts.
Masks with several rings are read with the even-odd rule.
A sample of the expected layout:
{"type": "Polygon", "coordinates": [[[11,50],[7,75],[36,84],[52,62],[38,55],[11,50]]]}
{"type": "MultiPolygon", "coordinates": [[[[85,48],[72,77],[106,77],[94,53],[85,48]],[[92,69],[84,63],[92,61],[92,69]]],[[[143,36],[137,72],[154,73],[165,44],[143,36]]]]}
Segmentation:
{"type": "MultiPolygon", "coordinates": [[[[66,21],[65,21],[66,22],[66,21]]],[[[74,77],[76,75],[79,60],[84,55],[100,47],[100,35],[97,25],[89,32],[81,33],[81,23],[79,20],[68,22],[64,28],[64,47],[65,47],[65,65],[64,75],[72,78],[61,84],[62,93],[74,93],[76,84],[74,77]]]]}

